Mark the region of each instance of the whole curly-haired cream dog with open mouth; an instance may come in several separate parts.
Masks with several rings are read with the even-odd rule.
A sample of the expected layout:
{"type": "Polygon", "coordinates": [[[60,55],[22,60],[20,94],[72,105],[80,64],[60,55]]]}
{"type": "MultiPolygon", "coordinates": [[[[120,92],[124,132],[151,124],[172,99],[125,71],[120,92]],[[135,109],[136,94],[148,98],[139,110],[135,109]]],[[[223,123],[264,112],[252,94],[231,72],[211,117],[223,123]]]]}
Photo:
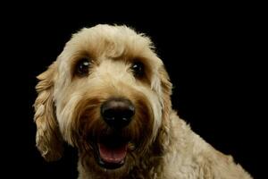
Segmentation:
{"type": "Polygon", "coordinates": [[[79,178],[251,178],[172,110],[172,83],[149,38],[126,26],[80,30],[38,76],[37,147],[79,150],[79,178]]]}

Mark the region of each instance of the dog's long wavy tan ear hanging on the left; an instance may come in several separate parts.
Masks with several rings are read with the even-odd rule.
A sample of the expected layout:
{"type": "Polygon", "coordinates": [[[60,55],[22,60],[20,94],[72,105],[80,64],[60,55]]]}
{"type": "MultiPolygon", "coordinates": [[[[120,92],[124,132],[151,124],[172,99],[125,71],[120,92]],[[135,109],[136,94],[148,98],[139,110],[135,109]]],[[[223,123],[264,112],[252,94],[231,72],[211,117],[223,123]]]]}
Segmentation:
{"type": "Polygon", "coordinates": [[[46,72],[38,75],[38,98],[35,101],[34,121],[37,124],[37,147],[46,161],[54,161],[63,155],[63,137],[55,118],[54,80],[56,63],[51,64],[46,72]]]}

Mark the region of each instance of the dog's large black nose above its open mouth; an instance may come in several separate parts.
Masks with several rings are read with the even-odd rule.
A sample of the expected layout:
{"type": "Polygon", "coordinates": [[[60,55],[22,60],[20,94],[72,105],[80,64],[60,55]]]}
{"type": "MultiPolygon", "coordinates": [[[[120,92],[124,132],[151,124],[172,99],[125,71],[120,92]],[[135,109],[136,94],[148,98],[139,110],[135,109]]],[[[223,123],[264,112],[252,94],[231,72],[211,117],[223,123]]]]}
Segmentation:
{"type": "Polygon", "coordinates": [[[135,107],[130,100],[124,98],[109,99],[101,107],[101,115],[106,124],[116,129],[121,129],[130,124],[134,114],[135,107]]]}

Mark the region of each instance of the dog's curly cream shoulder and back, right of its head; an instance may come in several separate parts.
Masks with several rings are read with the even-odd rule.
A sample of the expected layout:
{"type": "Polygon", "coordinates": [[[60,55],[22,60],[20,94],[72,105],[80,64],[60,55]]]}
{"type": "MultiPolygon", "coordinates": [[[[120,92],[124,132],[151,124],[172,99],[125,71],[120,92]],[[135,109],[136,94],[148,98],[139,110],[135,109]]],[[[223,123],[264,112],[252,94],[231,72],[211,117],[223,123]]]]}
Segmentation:
{"type": "Polygon", "coordinates": [[[231,156],[214,149],[172,112],[170,148],[165,156],[166,178],[241,178],[251,176],[231,156]]]}

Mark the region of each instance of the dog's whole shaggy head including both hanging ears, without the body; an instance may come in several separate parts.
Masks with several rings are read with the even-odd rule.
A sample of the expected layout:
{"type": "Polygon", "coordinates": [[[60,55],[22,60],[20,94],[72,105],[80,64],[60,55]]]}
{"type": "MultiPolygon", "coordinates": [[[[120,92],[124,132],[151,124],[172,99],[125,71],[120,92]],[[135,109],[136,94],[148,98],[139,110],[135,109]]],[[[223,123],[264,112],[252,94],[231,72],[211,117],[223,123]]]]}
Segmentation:
{"type": "Polygon", "coordinates": [[[62,141],[95,170],[127,169],[168,123],[172,85],[144,35],[124,26],[80,30],[38,76],[35,121],[44,158],[62,141]]]}

